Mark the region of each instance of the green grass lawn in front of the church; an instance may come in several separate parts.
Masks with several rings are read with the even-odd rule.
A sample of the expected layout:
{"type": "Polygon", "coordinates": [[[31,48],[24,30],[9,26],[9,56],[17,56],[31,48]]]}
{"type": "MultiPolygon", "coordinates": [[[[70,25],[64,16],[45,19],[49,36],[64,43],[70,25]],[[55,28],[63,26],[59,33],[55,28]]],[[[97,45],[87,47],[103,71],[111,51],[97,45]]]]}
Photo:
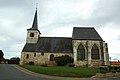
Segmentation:
{"type": "Polygon", "coordinates": [[[22,65],[22,67],[37,72],[40,74],[46,74],[51,76],[62,77],[91,77],[96,73],[99,73],[98,68],[93,67],[67,67],[67,66],[35,66],[35,65],[22,65]]]}

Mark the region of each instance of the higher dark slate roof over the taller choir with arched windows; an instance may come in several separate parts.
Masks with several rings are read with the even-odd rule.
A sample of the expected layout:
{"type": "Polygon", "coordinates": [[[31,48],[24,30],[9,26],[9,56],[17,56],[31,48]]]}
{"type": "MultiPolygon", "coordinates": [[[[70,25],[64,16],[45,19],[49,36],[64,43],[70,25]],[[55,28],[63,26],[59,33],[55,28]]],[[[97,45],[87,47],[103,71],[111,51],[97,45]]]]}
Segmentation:
{"type": "Polygon", "coordinates": [[[72,39],[74,40],[103,40],[94,27],[74,27],[72,39]]]}

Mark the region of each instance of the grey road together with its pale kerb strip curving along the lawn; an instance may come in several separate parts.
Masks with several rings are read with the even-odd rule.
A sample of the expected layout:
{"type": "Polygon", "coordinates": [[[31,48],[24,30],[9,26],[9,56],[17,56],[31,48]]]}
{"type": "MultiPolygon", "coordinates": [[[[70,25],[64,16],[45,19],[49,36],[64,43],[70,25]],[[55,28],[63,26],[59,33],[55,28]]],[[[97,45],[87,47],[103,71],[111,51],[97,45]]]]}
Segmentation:
{"type": "Polygon", "coordinates": [[[27,71],[16,65],[0,64],[0,80],[120,80],[120,77],[107,78],[64,78],[52,77],[27,71]]]}

